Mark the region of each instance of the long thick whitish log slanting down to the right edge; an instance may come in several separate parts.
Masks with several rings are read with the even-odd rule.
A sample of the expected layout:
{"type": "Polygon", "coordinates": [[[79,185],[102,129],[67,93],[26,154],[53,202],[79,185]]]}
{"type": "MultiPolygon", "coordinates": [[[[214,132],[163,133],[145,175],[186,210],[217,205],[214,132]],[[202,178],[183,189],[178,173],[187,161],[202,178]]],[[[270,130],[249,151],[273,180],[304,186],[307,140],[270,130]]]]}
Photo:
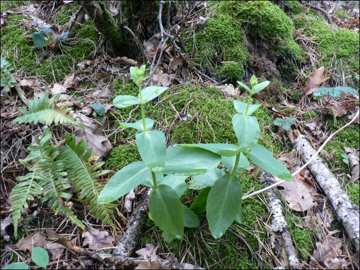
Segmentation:
{"type": "MultiPolygon", "coordinates": [[[[311,143],[304,135],[299,135],[295,140],[297,149],[303,162],[307,162],[315,154],[311,143]]],[[[329,198],[336,217],[343,224],[351,242],[355,245],[356,253],[359,253],[359,208],[351,200],[336,176],[329,170],[326,162],[316,156],[308,165],[311,173],[315,176],[320,188],[329,198]]]]}

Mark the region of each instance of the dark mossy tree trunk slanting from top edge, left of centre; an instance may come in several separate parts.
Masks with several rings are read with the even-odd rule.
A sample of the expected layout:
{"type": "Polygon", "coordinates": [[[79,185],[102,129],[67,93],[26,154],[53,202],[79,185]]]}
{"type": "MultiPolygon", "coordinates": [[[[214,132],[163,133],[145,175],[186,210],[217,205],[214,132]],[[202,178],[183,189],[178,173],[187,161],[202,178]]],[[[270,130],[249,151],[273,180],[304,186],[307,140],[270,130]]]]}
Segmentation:
{"type": "Polygon", "coordinates": [[[86,13],[94,21],[95,27],[110,42],[116,56],[126,55],[129,51],[127,43],[123,39],[123,34],[118,29],[113,16],[106,9],[102,1],[75,1],[81,5],[86,13]]]}

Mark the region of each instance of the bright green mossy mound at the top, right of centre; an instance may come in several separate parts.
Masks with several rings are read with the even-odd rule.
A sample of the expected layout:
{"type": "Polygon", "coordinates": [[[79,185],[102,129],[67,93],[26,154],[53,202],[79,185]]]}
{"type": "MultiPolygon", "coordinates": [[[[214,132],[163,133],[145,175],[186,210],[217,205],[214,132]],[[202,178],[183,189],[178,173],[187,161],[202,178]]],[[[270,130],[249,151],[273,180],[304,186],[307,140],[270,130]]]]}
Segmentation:
{"type": "Polygon", "coordinates": [[[269,1],[221,1],[201,29],[183,31],[184,50],[193,52],[194,61],[214,78],[236,82],[244,75],[243,66],[250,64],[246,34],[274,43],[279,56],[299,58],[292,29],[291,19],[269,1]]]}

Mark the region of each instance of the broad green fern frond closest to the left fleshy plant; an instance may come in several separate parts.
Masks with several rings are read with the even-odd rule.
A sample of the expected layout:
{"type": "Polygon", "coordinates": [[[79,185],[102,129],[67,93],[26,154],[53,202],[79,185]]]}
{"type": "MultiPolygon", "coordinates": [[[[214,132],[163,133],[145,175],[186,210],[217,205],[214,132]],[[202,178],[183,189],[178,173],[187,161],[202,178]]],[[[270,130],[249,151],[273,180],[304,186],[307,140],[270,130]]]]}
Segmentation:
{"type": "Polygon", "coordinates": [[[91,165],[91,161],[97,160],[99,157],[90,158],[93,149],[89,149],[85,154],[85,148],[87,142],[82,138],[78,144],[76,144],[75,135],[70,136],[69,133],[65,132],[65,143],[66,146],[63,146],[59,149],[61,154],[57,157],[58,160],[66,158],[67,160],[67,177],[71,177],[74,181],[73,188],[75,192],[79,192],[79,200],[84,202],[89,202],[87,209],[92,213],[96,213],[95,217],[100,218],[114,227],[114,223],[110,218],[110,214],[113,213],[112,208],[115,208],[116,204],[103,204],[99,205],[97,202],[97,197],[99,196],[103,185],[100,185],[96,180],[100,176],[109,173],[109,170],[98,171],[104,164],[104,162],[99,162],[95,165],[91,165]]]}

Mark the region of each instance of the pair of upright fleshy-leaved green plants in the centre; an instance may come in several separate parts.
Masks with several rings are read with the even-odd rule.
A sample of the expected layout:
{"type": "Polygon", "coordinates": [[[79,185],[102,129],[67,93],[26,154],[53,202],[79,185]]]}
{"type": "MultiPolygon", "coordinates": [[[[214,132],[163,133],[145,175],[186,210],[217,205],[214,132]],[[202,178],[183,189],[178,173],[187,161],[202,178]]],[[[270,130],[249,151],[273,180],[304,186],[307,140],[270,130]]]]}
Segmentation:
{"type": "Polygon", "coordinates": [[[207,212],[210,231],[220,238],[234,220],[241,223],[242,187],[236,173],[245,170],[249,158],[256,165],[286,181],[293,177],[273,154],[257,144],[260,128],[256,117],[251,116],[259,104],[250,104],[251,96],[268,85],[259,83],[255,76],[250,80],[253,87],[238,82],[249,91],[247,103],[234,101],[239,114],[232,124],[238,137],[238,145],[227,143],[196,143],[166,148],[165,135],[151,131],[154,120],[145,118],[143,104],[156,98],[168,87],[149,86],[141,90],[145,65],[130,69],[133,80],[139,85],[139,95],[117,96],[114,105],[124,108],[140,104],[142,119],[136,123],[121,123],[122,128],[135,128],[136,143],[142,158],[123,167],[101,191],[98,202],[110,203],[127,194],[139,184],[153,187],[149,199],[149,217],[164,231],[165,241],[181,239],[185,227],[198,227],[197,214],[207,212]],[[218,169],[222,163],[230,174],[218,169]],[[192,176],[189,186],[185,179],[192,176]],[[189,189],[202,190],[190,208],[182,205],[180,197],[189,189]]]}

